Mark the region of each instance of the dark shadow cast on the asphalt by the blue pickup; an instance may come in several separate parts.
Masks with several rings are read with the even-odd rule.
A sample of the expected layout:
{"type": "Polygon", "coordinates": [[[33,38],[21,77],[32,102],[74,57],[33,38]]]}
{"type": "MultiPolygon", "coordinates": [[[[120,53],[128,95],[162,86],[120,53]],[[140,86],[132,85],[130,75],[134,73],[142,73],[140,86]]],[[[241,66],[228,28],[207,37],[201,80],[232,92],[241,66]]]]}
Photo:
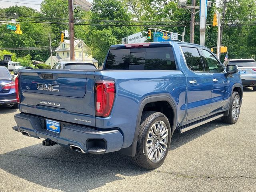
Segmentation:
{"type": "MultiPolygon", "coordinates": [[[[170,150],[226,125],[215,120],[183,134],[174,134],[170,150]]],[[[66,192],[89,191],[126,176],[149,172],[133,165],[129,157],[119,152],[82,154],[58,145],[41,144],[1,154],[0,168],[29,182],[66,192]]]]}

